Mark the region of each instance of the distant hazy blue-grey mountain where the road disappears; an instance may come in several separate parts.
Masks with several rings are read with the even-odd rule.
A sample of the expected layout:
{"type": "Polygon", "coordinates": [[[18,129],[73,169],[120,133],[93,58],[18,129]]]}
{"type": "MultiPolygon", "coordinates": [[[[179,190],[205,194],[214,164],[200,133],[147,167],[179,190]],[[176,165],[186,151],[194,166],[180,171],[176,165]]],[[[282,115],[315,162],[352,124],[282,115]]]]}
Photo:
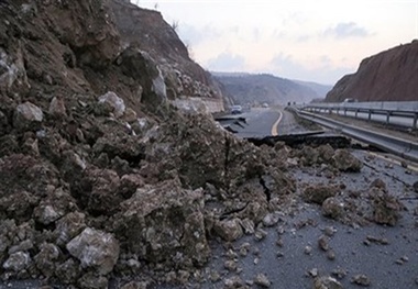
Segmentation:
{"type": "MultiPolygon", "coordinates": [[[[222,95],[234,103],[268,103],[286,105],[288,102],[310,102],[324,97],[324,88],[311,82],[301,82],[261,74],[211,73],[223,86],[222,95]]],[[[330,87],[329,87],[330,89],[330,87]]]]}

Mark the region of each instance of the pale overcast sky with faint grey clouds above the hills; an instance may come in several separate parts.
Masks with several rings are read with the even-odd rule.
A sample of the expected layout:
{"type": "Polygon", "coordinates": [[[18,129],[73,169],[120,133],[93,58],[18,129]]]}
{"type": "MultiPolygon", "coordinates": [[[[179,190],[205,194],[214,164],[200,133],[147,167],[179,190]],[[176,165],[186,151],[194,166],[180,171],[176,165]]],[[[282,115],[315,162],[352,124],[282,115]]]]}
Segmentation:
{"type": "Polygon", "coordinates": [[[418,38],[418,0],[131,0],[161,11],[211,71],[333,85],[371,55],[418,38]]]}

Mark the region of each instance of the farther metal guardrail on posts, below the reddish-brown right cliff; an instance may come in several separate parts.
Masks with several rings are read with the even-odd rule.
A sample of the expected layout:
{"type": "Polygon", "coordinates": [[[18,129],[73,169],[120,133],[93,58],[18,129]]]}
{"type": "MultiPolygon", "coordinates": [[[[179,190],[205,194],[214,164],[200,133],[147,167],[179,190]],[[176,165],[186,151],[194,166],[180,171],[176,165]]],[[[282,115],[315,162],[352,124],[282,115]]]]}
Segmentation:
{"type": "Polygon", "coordinates": [[[372,114],[383,114],[386,115],[387,124],[391,123],[391,116],[406,116],[413,119],[413,129],[418,129],[418,101],[309,103],[298,108],[338,114],[342,111],[345,115],[348,111],[351,111],[354,112],[354,118],[358,118],[359,112],[363,112],[369,114],[369,120],[372,119],[372,114]]]}

